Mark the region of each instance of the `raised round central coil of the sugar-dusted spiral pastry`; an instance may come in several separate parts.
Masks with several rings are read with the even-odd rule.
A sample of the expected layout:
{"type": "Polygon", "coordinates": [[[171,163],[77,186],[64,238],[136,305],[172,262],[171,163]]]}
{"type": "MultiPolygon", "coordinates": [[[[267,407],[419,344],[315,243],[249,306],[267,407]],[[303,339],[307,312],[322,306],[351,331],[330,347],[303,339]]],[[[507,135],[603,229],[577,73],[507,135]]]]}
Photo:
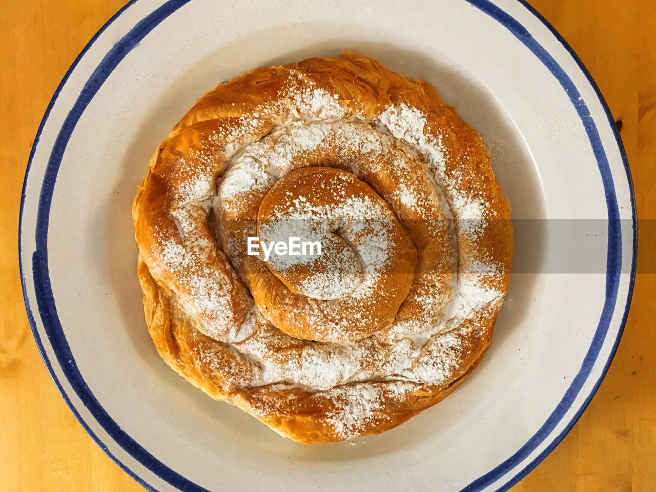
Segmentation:
{"type": "MultiPolygon", "coordinates": [[[[319,166],[283,176],[260,203],[257,232],[264,244],[297,241],[299,254],[288,254],[290,249],[284,255],[272,253],[266,260],[268,270],[291,296],[316,301],[301,302],[304,306],[297,310],[310,306],[319,318],[342,304],[356,319],[354,330],[343,327],[326,336],[310,326],[302,338],[360,338],[358,325],[366,327],[366,333],[376,331],[394,319],[411,287],[415,247],[384,199],[355,174],[319,166]],[[371,296],[373,289],[385,292],[392,285],[396,297],[371,296]],[[371,312],[388,316],[374,319],[371,312]]],[[[265,302],[262,307],[281,316],[285,316],[281,309],[289,308],[286,302],[265,302]]],[[[286,331],[286,324],[279,323],[279,328],[286,331]]]]}

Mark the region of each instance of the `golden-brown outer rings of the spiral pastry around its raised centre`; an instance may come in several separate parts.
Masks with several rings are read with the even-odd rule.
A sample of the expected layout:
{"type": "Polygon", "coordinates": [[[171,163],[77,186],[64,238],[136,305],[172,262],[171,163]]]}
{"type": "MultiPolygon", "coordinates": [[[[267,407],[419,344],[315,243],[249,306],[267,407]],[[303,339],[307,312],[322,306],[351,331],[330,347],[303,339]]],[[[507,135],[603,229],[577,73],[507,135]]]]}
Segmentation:
{"type": "MultiPolygon", "coordinates": [[[[312,111],[312,108],[308,110],[312,111]]],[[[313,114],[313,121],[326,120],[316,112],[313,114]]],[[[352,131],[359,129],[361,123],[351,121],[348,125],[352,131]]],[[[330,131],[335,131],[335,127],[330,131]]],[[[314,154],[295,154],[292,160],[298,162],[292,167],[323,163],[353,171],[348,152],[344,154],[332,148],[329,142],[316,148],[314,154]]],[[[359,154],[358,163],[371,160],[368,155],[359,154]]],[[[274,198],[275,205],[279,201],[274,198]]],[[[228,205],[235,203],[228,198],[226,201],[228,205]]],[[[159,146],[134,199],[133,217],[146,321],[162,358],[213,398],[230,401],[279,434],[304,443],[379,434],[447,396],[478,365],[489,344],[510,277],[510,209],[480,136],[427,83],[389,72],[375,60],[350,52],[339,58],[311,58],[283,67],[258,68],[208,92],[159,146]],[[386,132],[392,134],[386,138],[394,140],[396,149],[384,155],[396,155],[393,152],[399,152],[398,148],[411,154],[404,158],[407,167],[403,173],[395,171],[394,166],[376,168],[373,160],[358,170],[358,178],[373,186],[403,224],[405,237],[410,239],[419,258],[416,266],[410,260],[413,283],[409,289],[401,289],[408,295],[396,314],[394,327],[428,316],[420,302],[426,291],[439,291],[435,297],[437,307],[431,313],[438,316],[434,323],[440,321],[444,304],[451,299],[448,285],[455,269],[455,253],[451,249],[457,249],[458,279],[476,276],[478,285],[495,293],[495,297],[478,306],[467,318],[446,320],[440,333],[428,338],[423,346],[417,342],[415,359],[411,359],[411,367],[403,374],[384,375],[380,367],[386,361],[377,358],[379,352],[389,354],[392,350],[390,337],[396,333],[394,327],[380,329],[378,338],[358,340],[358,350],[363,354],[358,371],[378,375],[364,380],[352,376],[332,386],[322,383],[316,388],[303,379],[300,382],[289,378],[270,380],[265,371],[268,366],[252,356],[254,340],[260,332],[266,333],[270,340],[271,363],[277,364],[275,367],[287,367],[285,364],[290,359],[302,359],[308,351],[319,349],[313,345],[316,342],[281,338],[275,328],[254,314],[251,296],[261,296],[264,300],[258,304],[265,305],[269,302],[267,296],[270,298],[279,288],[272,287],[278,277],[272,274],[271,285],[261,283],[263,274],[270,272],[264,262],[243,256],[243,263],[236,266],[230,253],[229,246],[236,239],[243,239],[243,234],[256,228],[241,219],[257,216],[260,203],[272,186],[266,191],[250,192],[248,199],[239,202],[244,204],[239,210],[213,207],[214,222],[207,200],[218,197],[220,202],[221,196],[227,196],[221,195],[220,190],[217,195],[216,180],[231,165],[232,148],[243,148],[254,142],[266,146],[272,128],[291,121],[291,115],[303,104],[301,101],[299,106],[292,101],[281,105],[280,101],[293,99],[294,94],[310,89],[335,94],[340,108],[347,115],[358,115],[359,121],[384,123],[386,132]],[[398,121],[413,111],[423,117],[422,133],[432,138],[431,142],[439,141],[443,162],[431,164],[430,156],[422,154],[422,142],[415,142],[412,136],[405,138],[404,128],[398,127],[398,121]],[[230,138],[217,138],[217,135],[230,138]],[[412,150],[411,143],[417,144],[417,152],[412,150]],[[424,166],[430,173],[424,171],[424,166]],[[415,192],[433,204],[440,202],[435,190],[441,190],[449,201],[455,230],[449,232],[445,226],[449,221],[437,210],[439,207],[405,204],[395,192],[400,184],[411,184],[415,192]],[[476,207],[461,206],[458,200],[463,196],[466,205],[481,205],[482,216],[470,214],[476,207]],[[234,228],[228,234],[225,224],[243,226],[237,228],[238,234],[234,228]],[[215,227],[219,230],[217,234],[215,227]],[[489,268],[482,270],[482,263],[489,268]],[[209,280],[220,279],[217,285],[222,288],[225,305],[208,308],[194,304],[198,279],[205,279],[207,272],[211,272],[209,280]],[[227,311],[225,306],[229,308],[227,311]],[[432,354],[445,359],[436,361],[432,354]],[[424,365],[431,361],[435,363],[430,365],[433,371],[430,374],[440,377],[417,380],[417,374],[425,373],[424,365]],[[353,399],[372,393],[377,400],[373,404],[369,400],[363,403],[366,412],[363,417],[360,415],[361,419],[342,415],[355,404],[353,399]]],[[[237,243],[243,249],[244,241],[237,240],[237,243]]],[[[401,257],[407,260],[409,255],[402,253],[401,257]]],[[[214,284],[207,285],[203,283],[203,288],[218,289],[214,284]]],[[[281,324],[279,320],[276,323],[281,324]]],[[[312,335],[308,326],[289,323],[284,331],[308,338],[312,335]]],[[[362,335],[367,333],[358,337],[362,335]]],[[[327,345],[335,350],[333,344],[327,345]]],[[[292,372],[290,377],[295,374],[292,372]]]]}

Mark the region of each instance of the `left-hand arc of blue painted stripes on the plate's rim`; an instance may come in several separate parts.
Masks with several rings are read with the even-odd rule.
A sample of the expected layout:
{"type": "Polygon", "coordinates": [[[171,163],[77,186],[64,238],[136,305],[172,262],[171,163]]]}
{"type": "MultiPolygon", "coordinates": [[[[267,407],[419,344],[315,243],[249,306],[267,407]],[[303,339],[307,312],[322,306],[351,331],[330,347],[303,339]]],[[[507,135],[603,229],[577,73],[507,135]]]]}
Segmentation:
{"type": "MultiPolygon", "coordinates": [[[[116,18],[118,18],[118,16],[120,16],[126,9],[128,9],[135,1],[136,0],[131,0],[122,9],[116,12],[112,16],[112,18],[110,18],[110,20],[108,20],[108,22],[106,22],[106,24],[104,24],[104,26],[102,26],[102,28],[100,28],[100,30],[92,37],[91,41],[87,43],[83,51],[81,51],[80,54],[77,56],[77,58],[75,58],[75,61],[73,62],[72,66],[68,69],[66,75],[64,75],[64,78],[58,85],[54,93],[54,96],[52,96],[51,102],[48,105],[43,120],[41,121],[41,125],[39,125],[39,129],[37,131],[37,135],[35,137],[31,149],[30,159],[28,161],[28,167],[26,169],[25,179],[23,182],[21,204],[20,204],[20,215],[19,215],[19,228],[18,228],[18,252],[19,252],[19,266],[20,266],[20,273],[21,273],[23,297],[25,300],[26,311],[28,313],[28,319],[30,321],[32,333],[35,337],[35,341],[37,342],[37,346],[39,348],[39,352],[41,353],[41,357],[43,358],[43,361],[45,362],[45,365],[49,373],[51,374],[51,377],[54,380],[60,394],[62,394],[62,397],[66,401],[67,405],[73,411],[73,415],[75,415],[75,418],[79,420],[83,428],[85,428],[85,430],[89,433],[91,438],[94,441],[96,441],[96,443],[100,446],[100,448],[103,451],[105,451],[105,453],[107,453],[107,455],[114,462],[116,462],[121,467],[121,469],[123,469],[125,472],[127,472],[127,474],[133,477],[134,480],[136,480],[136,482],[140,483],[140,485],[144,486],[149,491],[157,492],[157,489],[152,487],[152,485],[148,484],[145,480],[143,480],[140,476],[138,476],[138,474],[133,472],[133,470],[128,468],[125,464],[123,464],[123,462],[121,462],[117,457],[115,457],[115,455],[112,454],[112,452],[108,449],[107,445],[102,440],[100,440],[100,438],[98,438],[98,436],[91,430],[89,425],[81,417],[81,415],[73,405],[72,401],[66,394],[61,382],[56,376],[56,373],[54,373],[54,370],[52,369],[51,361],[47,353],[45,352],[45,347],[43,346],[43,343],[41,341],[41,336],[39,335],[38,329],[35,325],[33,314],[30,308],[30,303],[28,300],[28,295],[26,292],[24,271],[22,266],[22,255],[21,255],[22,213],[23,213],[23,207],[25,201],[26,186],[28,183],[28,174],[30,173],[31,161],[33,159],[35,150],[37,148],[39,137],[41,136],[41,131],[43,130],[43,127],[45,126],[45,122],[47,121],[50,115],[52,106],[54,106],[54,102],[58,98],[60,91],[66,84],[66,81],[68,81],[68,77],[70,77],[70,74],[77,66],[79,60],[81,60],[84,54],[89,50],[89,48],[93,45],[96,39],[106,30],[106,28],[108,28],[108,26],[110,26],[110,24],[112,24],[112,22],[116,20],[116,18]]],[[[41,195],[39,197],[39,211],[37,215],[36,251],[33,253],[32,256],[32,272],[33,272],[33,279],[34,279],[35,295],[37,297],[37,307],[39,308],[39,314],[41,315],[41,320],[43,321],[44,329],[51,342],[52,350],[60,364],[60,367],[62,368],[62,372],[64,372],[64,375],[66,375],[66,379],[68,379],[73,390],[75,390],[75,393],[77,394],[78,398],[80,398],[80,400],[84,403],[85,407],[87,407],[89,412],[94,416],[94,418],[104,428],[104,430],[108,432],[108,434],[113,438],[113,440],[117,441],[117,443],[119,443],[119,445],[121,445],[121,447],[125,451],[127,451],[127,453],[129,453],[131,456],[135,457],[135,455],[142,455],[145,453],[145,455],[150,459],[147,459],[145,461],[142,459],[138,459],[138,461],[144,466],[146,466],[146,468],[154,472],[157,476],[171,483],[171,485],[174,485],[175,487],[178,487],[179,489],[182,490],[186,490],[188,489],[189,486],[192,486],[192,488],[189,490],[194,490],[199,492],[200,491],[209,492],[207,491],[207,489],[199,485],[196,485],[193,482],[190,482],[190,480],[184,478],[177,472],[174,472],[174,470],[171,470],[171,468],[168,468],[165,464],[159,462],[157,459],[155,459],[155,457],[150,455],[150,453],[148,453],[146,449],[144,449],[141,445],[139,445],[136,441],[134,441],[127,433],[125,433],[125,431],[123,431],[120,428],[120,426],[106,413],[102,405],[100,405],[98,400],[96,400],[96,398],[93,396],[91,390],[89,389],[82,375],[79,373],[79,370],[77,369],[77,365],[75,364],[75,359],[72,356],[70,346],[68,346],[68,342],[66,341],[66,337],[64,336],[61,323],[56,314],[54,297],[52,295],[51,283],[48,275],[48,259],[47,259],[47,232],[48,232],[48,222],[49,222],[50,203],[52,199],[52,191],[54,190],[56,174],[61,164],[61,159],[64,155],[64,150],[66,150],[66,145],[68,144],[68,140],[71,134],[73,133],[73,129],[75,129],[75,125],[77,124],[79,117],[81,117],[85,108],[88,106],[89,102],[91,102],[93,96],[96,94],[96,92],[98,92],[100,87],[102,87],[104,81],[113,72],[113,69],[119,64],[119,62],[130,51],[134,49],[134,47],[139,43],[139,41],[141,41],[144,37],[146,37],[146,35],[148,35],[148,33],[150,33],[150,31],[152,31],[155,27],[157,27],[162,22],[162,20],[167,18],[174,11],[178,10],[180,7],[182,7],[182,5],[185,5],[189,1],[190,0],[169,0],[167,1],[167,3],[161,5],[161,7],[154,10],[153,12],[148,14],[148,16],[140,20],[134,26],[134,28],[132,28],[115,45],[113,45],[112,49],[108,51],[108,53],[104,56],[100,64],[98,64],[98,67],[96,67],[94,72],[92,72],[92,75],[91,77],[89,77],[87,83],[85,83],[85,87],[82,89],[81,93],[79,94],[77,101],[73,105],[72,110],[68,113],[66,120],[64,121],[64,125],[62,125],[62,129],[60,129],[60,132],[56,138],[51,153],[51,157],[49,159],[49,163],[46,169],[46,173],[44,176],[44,183],[41,188],[41,195]],[[58,155],[56,155],[57,154],[56,150],[60,151],[58,155]],[[49,188],[49,190],[46,190],[46,188],[49,188]]]]}

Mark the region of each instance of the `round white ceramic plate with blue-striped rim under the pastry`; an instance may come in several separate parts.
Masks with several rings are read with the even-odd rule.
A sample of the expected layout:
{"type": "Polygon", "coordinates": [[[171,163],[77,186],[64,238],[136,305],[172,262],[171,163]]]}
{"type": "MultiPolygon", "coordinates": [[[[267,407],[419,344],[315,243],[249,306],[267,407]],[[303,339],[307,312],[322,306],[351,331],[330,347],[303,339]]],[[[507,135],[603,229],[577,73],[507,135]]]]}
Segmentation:
{"type": "Polygon", "coordinates": [[[94,440],[151,490],[504,490],[592,398],[634,272],[631,182],[613,121],[564,41],[516,0],[130,3],[52,98],[20,224],[25,302],[52,378],[94,440]],[[256,66],[344,48],[459,106],[491,149],[514,218],[541,225],[516,237],[516,264],[532,266],[514,274],[491,349],[459,390],[382,436],[306,446],[159,359],[130,207],[155,146],[197,96],[256,66]],[[562,218],[605,224],[593,244],[602,271],[548,270],[562,218]]]}

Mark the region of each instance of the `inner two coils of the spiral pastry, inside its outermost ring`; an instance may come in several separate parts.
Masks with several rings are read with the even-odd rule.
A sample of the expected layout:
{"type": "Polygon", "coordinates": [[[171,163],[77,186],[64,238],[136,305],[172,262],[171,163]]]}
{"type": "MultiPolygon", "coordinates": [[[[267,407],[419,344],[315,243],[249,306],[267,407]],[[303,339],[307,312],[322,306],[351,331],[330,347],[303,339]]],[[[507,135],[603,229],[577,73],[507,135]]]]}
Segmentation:
{"type": "Polygon", "coordinates": [[[372,125],[282,125],[232,159],[214,211],[258,312],[296,340],[434,326],[451,298],[457,249],[440,194],[424,163],[372,125]],[[247,255],[248,238],[270,253],[247,255]],[[306,251],[289,254],[292,241],[306,251]]]}

